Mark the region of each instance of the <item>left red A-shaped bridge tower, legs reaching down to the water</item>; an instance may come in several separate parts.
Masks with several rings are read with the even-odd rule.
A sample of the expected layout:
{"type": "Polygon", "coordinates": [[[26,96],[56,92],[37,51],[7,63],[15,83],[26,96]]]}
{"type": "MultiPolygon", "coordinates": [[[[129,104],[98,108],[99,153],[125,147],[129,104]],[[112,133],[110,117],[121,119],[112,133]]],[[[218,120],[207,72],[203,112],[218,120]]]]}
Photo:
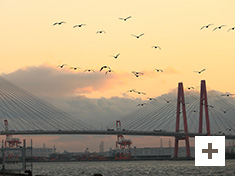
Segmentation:
{"type": "MultiPolygon", "coordinates": [[[[180,114],[183,114],[184,133],[188,133],[188,123],[187,123],[186,108],[185,108],[185,99],[184,99],[184,88],[183,88],[183,83],[181,83],[181,82],[178,84],[176,127],[175,127],[175,132],[176,133],[179,133],[180,114]],[[181,105],[182,105],[182,113],[180,111],[181,105]]],[[[190,157],[190,146],[189,146],[189,136],[188,135],[185,135],[184,137],[180,137],[180,138],[179,137],[175,137],[174,157],[175,158],[178,157],[179,140],[185,140],[187,157],[190,157]]]]}

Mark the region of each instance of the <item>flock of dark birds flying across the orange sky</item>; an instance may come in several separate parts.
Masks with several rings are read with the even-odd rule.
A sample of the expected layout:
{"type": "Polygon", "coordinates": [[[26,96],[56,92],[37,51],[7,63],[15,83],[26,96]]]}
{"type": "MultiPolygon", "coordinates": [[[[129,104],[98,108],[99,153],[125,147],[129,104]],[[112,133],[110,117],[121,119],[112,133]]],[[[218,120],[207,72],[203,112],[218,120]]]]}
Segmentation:
{"type": "MultiPolygon", "coordinates": [[[[125,17],[125,18],[118,18],[118,19],[119,19],[119,20],[122,20],[122,21],[127,21],[127,20],[129,20],[130,18],[132,18],[132,16],[128,16],[128,17],[125,17]]],[[[62,24],[65,24],[65,23],[66,23],[66,22],[64,22],[64,21],[55,22],[55,23],[53,23],[53,26],[62,25],[62,24]]],[[[210,26],[212,26],[212,25],[214,25],[214,24],[208,24],[208,25],[202,26],[202,27],[200,28],[200,30],[208,29],[208,28],[209,28],[210,26]]],[[[73,28],[81,28],[81,27],[83,27],[83,26],[86,26],[86,24],[76,24],[76,25],[73,26],[73,28]]],[[[220,29],[224,28],[225,26],[226,26],[226,25],[217,26],[217,27],[215,27],[215,28],[213,29],[213,31],[215,31],[215,30],[220,30],[220,29]]],[[[227,32],[232,31],[232,30],[235,30],[235,27],[229,28],[227,32]]],[[[102,33],[103,33],[103,34],[106,34],[106,31],[104,31],[104,30],[98,30],[98,31],[96,32],[96,34],[102,34],[102,33]]],[[[139,35],[134,35],[134,34],[132,34],[131,36],[133,36],[133,37],[139,39],[140,37],[142,37],[142,36],[144,36],[144,35],[145,35],[145,33],[141,33],[141,34],[139,34],[139,35]]],[[[158,45],[153,45],[152,48],[161,50],[161,47],[158,46],[158,45]]],[[[110,57],[113,57],[114,59],[118,59],[118,58],[120,57],[120,53],[118,53],[118,54],[116,54],[116,55],[110,55],[110,57]]],[[[57,67],[63,69],[63,68],[65,68],[66,66],[67,66],[67,64],[62,64],[62,65],[58,65],[57,67]]],[[[81,67],[72,67],[72,66],[70,66],[69,69],[72,69],[72,70],[75,70],[75,71],[76,71],[76,70],[78,70],[78,69],[81,69],[81,67]]],[[[107,65],[102,66],[102,67],[99,69],[99,72],[101,72],[101,71],[103,71],[103,70],[105,71],[105,75],[108,74],[108,73],[114,72],[114,71],[113,71],[109,66],[107,66],[107,65]]],[[[163,72],[163,70],[162,70],[162,69],[159,69],[159,68],[155,68],[154,71],[156,71],[156,72],[163,72]]],[[[206,71],[205,68],[203,68],[202,70],[193,71],[193,72],[198,73],[198,74],[201,74],[201,73],[203,73],[204,71],[206,71]]],[[[89,68],[89,69],[85,69],[83,72],[93,72],[93,73],[95,73],[96,71],[95,71],[94,69],[89,68]]],[[[143,75],[144,75],[143,72],[138,72],[138,71],[132,71],[131,73],[132,73],[135,77],[140,77],[140,76],[143,76],[143,75]]],[[[187,87],[187,89],[188,89],[188,90],[192,90],[192,89],[194,89],[194,87],[193,87],[193,86],[187,87]]],[[[136,89],[130,89],[130,90],[128,90],[126,93],[130,93],[130,92],[136,93],[136,94],[139,94],[139,95],[141,95],[141,94],[142,94],[142,95],[146,95],[145,92],[137,91],[136,89]]],[[[235,94],[223,94],[222,96],[228,96],[228,97],[229,97],[229,96],[233,96],[233,95],[235,95],[235,94]]],[[[156,101],[155,98],[151,98],[151,97],[149,97],[149,98],[147,98],[147,99],[150,100],[150,101],[152,101],[152,100],[155,100],[155,101],[156,101]]],[[[170,103],[170,102],[171,102],[171,100],[166,100],[166,99],[164,99],[164,101],[166,101],[166,103],[170,103]]],[[[145,103],[145,102],[144,102],[144,103],[140,103],[140,104],[138,104],[137,106],[144,106],[144,105],[147,105],[147,103],[145,103]]],[[[210,106],[210,105],[208,105],[208,107],[209,107],[209,106],[210,106]]],[[[212,106],[210,106],[210,107],[213,108],[212,106]]],[[[228,110],[223,110],[224,113],[226,113],[227,111],[228,111],[228,110]]]]}

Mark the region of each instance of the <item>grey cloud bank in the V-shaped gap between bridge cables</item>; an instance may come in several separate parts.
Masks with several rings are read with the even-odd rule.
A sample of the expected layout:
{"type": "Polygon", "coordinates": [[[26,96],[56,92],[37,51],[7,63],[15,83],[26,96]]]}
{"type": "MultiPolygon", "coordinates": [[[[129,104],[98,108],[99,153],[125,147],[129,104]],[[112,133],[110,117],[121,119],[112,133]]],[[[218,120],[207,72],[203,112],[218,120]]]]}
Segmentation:
{"type": "Polygon", "coordinates": [[[107,124],[114,123],[125,114],[134,111],[141,102],[140,98],[86,98],[85,96],[51,100],[55,106],[90,124],[91,129],[105,130],[107,124]]]}

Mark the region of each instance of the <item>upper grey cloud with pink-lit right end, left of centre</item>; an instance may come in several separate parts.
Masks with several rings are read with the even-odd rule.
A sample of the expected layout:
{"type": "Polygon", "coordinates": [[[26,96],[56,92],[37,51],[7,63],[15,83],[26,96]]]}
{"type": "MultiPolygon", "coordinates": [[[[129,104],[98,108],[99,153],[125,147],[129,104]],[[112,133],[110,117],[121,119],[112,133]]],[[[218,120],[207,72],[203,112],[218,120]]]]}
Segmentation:
{"type": "Polygon", "coordinates": [[[103,92],[128,81],[125,73],[78,72],[46,64],[19,69],[4,77],[36,95],[46,97],[103,92]]]}

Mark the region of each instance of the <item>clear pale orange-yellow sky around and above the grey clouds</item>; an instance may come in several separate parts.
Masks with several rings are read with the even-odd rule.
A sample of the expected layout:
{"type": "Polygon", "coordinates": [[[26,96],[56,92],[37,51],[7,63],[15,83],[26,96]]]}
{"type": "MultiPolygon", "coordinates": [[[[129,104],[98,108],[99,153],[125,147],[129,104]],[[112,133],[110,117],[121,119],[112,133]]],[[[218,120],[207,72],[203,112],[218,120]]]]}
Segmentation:
{"type": "MultiPolygon", "coordinates": [[[[157,96],[177,82],[232,92],[234,1],[1,1],[2,73],[22,67],[67,63],[83,69],[109,65],[118,72],[172,68],[179,74],[131,83],[157,96]],[[118,18],[132,16],[127,21],[118,18]],[[54,22],[66,21],[61,26],[54,22]],[[85,23],[82,28],[75,24],[85,23]],[[209,29],[203,25],[213,23],[209,29]],[[225,24],[221,30],[212,29],[225,24]],[[105,30],[106,34],[96,34],[105,30]],[[140,39],[131,34],[145,33],[140,39]],[[159,45],[162,50],[151,48],[159,45]],[[121,53],[115,60],[110,55],[121,53]],[[203,75],[194,70],[206,68],[203,75]],[[142,82],[143,81],[143,82],[142,82]],[[153,91],[153,87],[158,90],[153,91]]],[[[133,78],[134,79],[134,78],[133,78]]],[[[128,85],[125,87],[131,87],[128,85]]],[[[120,92],[123,90],[120,89],[120,92]]],[[[115,90],[117,92],[117,90],[115,90]]],[[[111,97],[114,91],[102,92],[111,97]]],[[[99,97],[94,92],[90,97],[99,97]]]]}

